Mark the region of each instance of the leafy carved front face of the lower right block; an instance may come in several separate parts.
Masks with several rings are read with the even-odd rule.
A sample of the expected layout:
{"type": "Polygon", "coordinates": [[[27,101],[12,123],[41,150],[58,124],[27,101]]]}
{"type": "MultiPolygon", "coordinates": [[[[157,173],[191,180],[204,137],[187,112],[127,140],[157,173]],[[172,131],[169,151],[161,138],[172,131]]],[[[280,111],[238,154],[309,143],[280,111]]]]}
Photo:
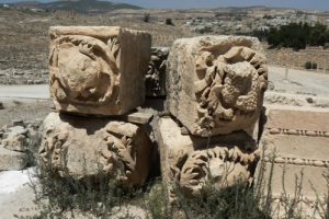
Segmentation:
{"type": "Polygon", "coordinates": [[[209,182],[217,187],[230,186],[239,180],[248,182],[259,159],[257,152],[242,152],[238,147],[196,150],[189,153],[184,163],[170,166],[171,180],[186,195],[195,196],[209,182]]]}

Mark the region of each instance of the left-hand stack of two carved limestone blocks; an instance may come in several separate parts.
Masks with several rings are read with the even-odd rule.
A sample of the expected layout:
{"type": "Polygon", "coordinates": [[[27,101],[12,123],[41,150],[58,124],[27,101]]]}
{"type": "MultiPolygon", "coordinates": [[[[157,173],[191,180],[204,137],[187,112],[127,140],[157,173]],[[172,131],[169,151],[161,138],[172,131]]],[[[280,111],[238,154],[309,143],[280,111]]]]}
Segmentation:
{"type": "Polygon", "coordinates": [[[141,185],[151,141],[143,125],[117,115],[144,103],[151,36],[115,26],[53,26],[49,36],[56,111],[44,120],[42,168],[60,177],[105,174],[124,186],[141,185]]]}

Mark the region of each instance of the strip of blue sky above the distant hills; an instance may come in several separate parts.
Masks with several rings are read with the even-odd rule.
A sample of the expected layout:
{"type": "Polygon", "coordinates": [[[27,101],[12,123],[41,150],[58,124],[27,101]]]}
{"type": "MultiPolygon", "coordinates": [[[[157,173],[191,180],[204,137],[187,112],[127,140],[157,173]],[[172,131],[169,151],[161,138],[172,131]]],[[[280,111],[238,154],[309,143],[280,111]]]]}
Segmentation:
{"type": "MultiPolygon", "coordinates": [[[[0,3],[12,3],[20,0],[0,0],[0,3]]],[[[27,1],[27,0],[21,0],[27,1]]],[[[38,0],[39,2],[52,2],[54,0],[38,0]]],[[[103,0],[105,1],[105,0],[103,0]]],[[[273,8],[294,8],[294,9],[309,9],[309,10],[329,10],[328,0],[109,0],[117,3],[129,3],[146,9],[202,9],[202,8],[220,8],[220,7],[252,7],[265,5],[273,8]]]]}

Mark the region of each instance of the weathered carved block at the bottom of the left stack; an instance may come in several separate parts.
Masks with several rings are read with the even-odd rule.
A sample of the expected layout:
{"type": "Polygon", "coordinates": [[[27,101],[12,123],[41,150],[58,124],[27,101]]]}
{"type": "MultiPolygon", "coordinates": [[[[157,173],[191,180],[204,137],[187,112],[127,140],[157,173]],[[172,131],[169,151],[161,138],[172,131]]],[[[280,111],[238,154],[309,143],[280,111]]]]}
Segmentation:
{"type": "Polygon", "coordinates": [[[105,173],[123,185],[141,185],[152,146],[143,126],[50,113],[44,120],[41,164],[65,177],[105,173]]]}

